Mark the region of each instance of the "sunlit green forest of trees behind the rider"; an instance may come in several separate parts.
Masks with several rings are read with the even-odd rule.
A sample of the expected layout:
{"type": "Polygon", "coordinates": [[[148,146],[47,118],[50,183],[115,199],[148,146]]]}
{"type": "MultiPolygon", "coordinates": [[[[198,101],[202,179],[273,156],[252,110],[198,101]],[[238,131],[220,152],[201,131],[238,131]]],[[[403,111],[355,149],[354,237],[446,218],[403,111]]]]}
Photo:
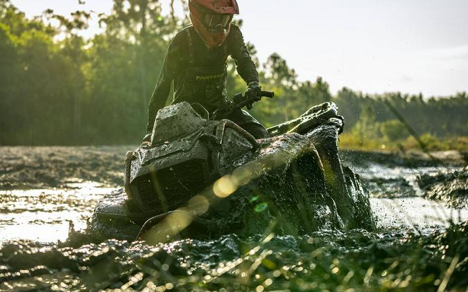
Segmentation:
{"type": "MultiPolygon", "coordinates": [[[[33,19],[0,0],[0,145],[139,144],[168,42],[187,25],[159,0],[114,0],[110,15],[45,10],[33,19]],[[80,31],[92,17],[103,31],[85,39],[80,31]]],[[[263,89],[277,96],[251,111],[267,127],[333,101],[345,117],[345,147],[468,148],[466,92],[331,94],[321,77],[300,82],[280,55],[260,64],[254,44],[248,47],[263,89]]],[[[228,71],[229,96],[245,91],[232,60],[228,71]]]]}

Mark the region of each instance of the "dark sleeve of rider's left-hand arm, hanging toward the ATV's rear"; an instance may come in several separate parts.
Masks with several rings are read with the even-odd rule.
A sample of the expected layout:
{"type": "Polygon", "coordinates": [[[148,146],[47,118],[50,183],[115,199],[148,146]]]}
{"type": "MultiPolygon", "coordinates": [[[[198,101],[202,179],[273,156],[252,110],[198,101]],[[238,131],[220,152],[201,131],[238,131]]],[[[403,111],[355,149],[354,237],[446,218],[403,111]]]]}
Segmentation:
{"type": "Polygon", "coordinates": [[[147,134],[153,131],[157,111],[166,105],[169,92],[171,91],[171,83],[174,79],[176,72],[177,46],[174,44],[174,39],[168,46],[164,62],[162,64],[161,73],[156,83],[155,91],[151,96],[150,104],[148,106],[148,125],[146,126],[147,134]]]}

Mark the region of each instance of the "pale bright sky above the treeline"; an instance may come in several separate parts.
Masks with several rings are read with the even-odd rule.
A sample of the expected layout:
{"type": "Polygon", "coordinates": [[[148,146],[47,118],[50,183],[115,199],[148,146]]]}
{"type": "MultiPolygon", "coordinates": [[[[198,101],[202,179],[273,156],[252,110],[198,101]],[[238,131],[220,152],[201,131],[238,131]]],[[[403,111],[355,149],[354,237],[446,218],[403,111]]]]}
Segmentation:
{"type": "MultiPolygon", "coordinates": [[[[110,12],[112,0],[11,0],[28,17],[52,8],[110,12]]],[[[162,0],[167,7],[170,0],[162,0]]],[[[260,62],[279,53],[299,80],[331,91],[468,91],[468,0],[238,0],[260,62]]],[[[87,35],[98,32],[91,26],[87,35]]]]}

